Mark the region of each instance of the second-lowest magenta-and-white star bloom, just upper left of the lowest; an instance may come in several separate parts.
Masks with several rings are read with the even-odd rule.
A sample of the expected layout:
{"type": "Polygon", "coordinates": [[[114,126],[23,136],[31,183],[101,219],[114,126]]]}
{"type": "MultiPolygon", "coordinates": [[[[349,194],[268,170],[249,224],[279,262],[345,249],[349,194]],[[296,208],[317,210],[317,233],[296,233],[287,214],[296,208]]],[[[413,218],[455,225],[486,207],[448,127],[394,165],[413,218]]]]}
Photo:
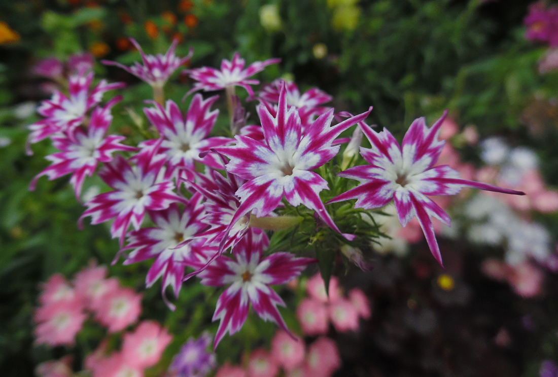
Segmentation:
{"type": "Polygon", "coordinates": [[[184,269],[201,268],[205,263],[199,254],[214,255],[217,252],[216,246],[204,246],[205,238],[196,238],[208,227],[200,221],[205,216],[201,198],[200,194],[194,194],[190,200],[185,200],[184,211],[180,211],[175,203],[162,211],[150,211],[156,226],[129,232],[129,243],[123,249],[133,249],[124,264],[155,258],[147,272],[146,285],[151,287],[158,278],[162,278],[161,293],[171,308],[174,306],[166,299],[165,289],[170,285],[178,297],[184,269]]]}

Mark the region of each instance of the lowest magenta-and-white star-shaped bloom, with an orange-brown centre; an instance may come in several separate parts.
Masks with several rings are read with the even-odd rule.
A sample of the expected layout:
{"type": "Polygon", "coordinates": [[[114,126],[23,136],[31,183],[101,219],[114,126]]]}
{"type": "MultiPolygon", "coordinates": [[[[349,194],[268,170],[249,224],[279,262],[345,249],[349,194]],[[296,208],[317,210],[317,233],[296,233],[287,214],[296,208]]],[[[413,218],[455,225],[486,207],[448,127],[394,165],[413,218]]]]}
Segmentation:
{"type": "Polygon", "coordinates": [[[242,328],[250,303],[264,321],[273,321],[288,331],[277,310],[277,305],[284,307],[285,303],[270,285],[287,283],[316,260],[296,257],[288,252],[275,252],[264,258],[263,249],[267,247],[267,242],[262,240],[264,238],[248,233],[237,244],[235,260],[220,256],[198,275],[201,284],[211,287],[230,284],[219,296],[213,314],[213,321],[220,320],[214,347],[225,333],[232,335],[242,328]]]}

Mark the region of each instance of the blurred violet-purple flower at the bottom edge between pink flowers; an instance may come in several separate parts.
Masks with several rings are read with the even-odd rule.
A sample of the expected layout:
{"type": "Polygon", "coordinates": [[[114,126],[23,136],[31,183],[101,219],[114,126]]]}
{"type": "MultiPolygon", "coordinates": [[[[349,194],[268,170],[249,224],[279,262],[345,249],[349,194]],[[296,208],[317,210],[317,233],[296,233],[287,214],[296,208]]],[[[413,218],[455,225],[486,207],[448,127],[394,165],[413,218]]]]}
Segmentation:
{"type": "Polygon", "coordinates": [[[216,365],[215,354],[207,351],[210,344],[209,333],[202,334],[198,339],[190,338],[172,359],[167,376],[204,377],[207,375],[216,365]]]}

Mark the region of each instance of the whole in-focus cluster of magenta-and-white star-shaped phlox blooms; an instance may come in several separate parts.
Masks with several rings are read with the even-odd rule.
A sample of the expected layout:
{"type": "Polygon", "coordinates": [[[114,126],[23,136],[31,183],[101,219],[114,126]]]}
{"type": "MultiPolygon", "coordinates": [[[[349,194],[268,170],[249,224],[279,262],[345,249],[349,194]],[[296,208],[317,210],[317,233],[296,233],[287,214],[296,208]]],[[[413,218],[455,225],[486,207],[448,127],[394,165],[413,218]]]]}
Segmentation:
{"type": "MultiPolygon", "coordinates": [[[[415,120],[400,145],[388,130],[377,132],[364,122],[372,107],[356,116],[336,113],[325,106],[331,97],[322,90],[301,93],[282,80],[254,92],[259,82],[251,77],[278,59],[245,67],[237,53],[220,69],[185,71],[195,80],[186,94],[225,92],[230,134],[210,136],[218,96],[196,93],[185,112],[165,98],[165,84],[191,55],[177,57],[176,42],[156,56],[132,43],[142,64],[104,63],[121,66],[153,88],[155,101],[143,108],[152,125],[142,133],[144,140],[128,145],[123,136],[107,136],[111,108],[121,98],[102,105],[102,96],[124,84],[102,80],[93,86],[93,73],[81,69],[70,75],[67,93],[56,90],[41,104],[44,119],[30,126],[31,143],[49,138],[60,150],[47,156],[52,164],[37,177],[71,175],[79,199],[85,178],[98,174],[109,189],[85,201],[80,223],[86,217],[93,224],[112,221],[110,233],[120,246],[114,263],[120,257],[124,264],[152,259],[146,284],[161,278],[169,307],[166,288],[178,295],[182,281],[193,276],[204,285],[227,286],[213,316],[220,321],[215,346],[227,332],[240,330],[250,306],[288,332],[277,310],[285,303],[271,285],[287,283],[316,261],[328,281],[341,247],[366,250],[381,234],[374,221],[365,221],[374,209],[394,202],[402,226],[417,217],[441,264],[431,217],[448,225],[450,218],[430,195],[454,195],[465,186],[523,194],[435,166],[446,112],[431,127],[424,118],[415,120]],[[248,92],[248,101],[258,101],[253,124],[247,124],[248,103],[240,101],[236,87],[248,92]],[[352,138],[340,137],[355,125],[352,138]],[[371,147],[359,148],[363,136],[371,147]],[[364,164],[354,166],[360,156],[364,164]]],[[[357,260],[366,265],[360,255],[357,260]]]]}

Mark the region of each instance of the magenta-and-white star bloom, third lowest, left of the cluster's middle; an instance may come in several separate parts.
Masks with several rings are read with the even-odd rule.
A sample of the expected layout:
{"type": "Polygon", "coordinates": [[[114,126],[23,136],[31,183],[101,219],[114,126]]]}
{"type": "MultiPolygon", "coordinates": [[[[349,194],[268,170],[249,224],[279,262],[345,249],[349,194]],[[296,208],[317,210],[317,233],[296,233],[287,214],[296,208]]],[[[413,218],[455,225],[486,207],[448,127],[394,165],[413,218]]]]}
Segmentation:
{"type": "Polygon", "coordinates": [[[88,208],[80,217],[81,221],[91,216],[92,224],[114,218],[110,233],[113,238],[120,238],[121,246],[130,223],[138,230],[146,210],[158,211],[184,201],[174,192],[175,184],[161,178],[166,157],[157,154],[157,146],[142,150],[132,159],[136,165],[117,156],[99,170],[100,178],[114,190],[85,203],[88,208]]]}

